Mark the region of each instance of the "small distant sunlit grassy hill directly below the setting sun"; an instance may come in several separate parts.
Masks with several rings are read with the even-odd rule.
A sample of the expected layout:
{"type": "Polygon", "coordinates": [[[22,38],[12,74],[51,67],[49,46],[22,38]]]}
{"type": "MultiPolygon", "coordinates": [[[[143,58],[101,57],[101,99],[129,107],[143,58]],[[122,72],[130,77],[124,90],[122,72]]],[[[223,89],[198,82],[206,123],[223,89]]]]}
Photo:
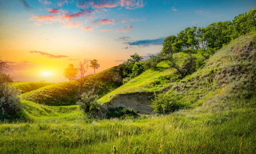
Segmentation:
{"type": "Polygon", "coordinates": [[[16,87],[20,89],[21,94],[29,91],[36,90],[38,88],[44,87],[44,86],[49,86],[53,83],[44,83],[44,82],[13,82],[10,83],[12,87],[16,87]]]}

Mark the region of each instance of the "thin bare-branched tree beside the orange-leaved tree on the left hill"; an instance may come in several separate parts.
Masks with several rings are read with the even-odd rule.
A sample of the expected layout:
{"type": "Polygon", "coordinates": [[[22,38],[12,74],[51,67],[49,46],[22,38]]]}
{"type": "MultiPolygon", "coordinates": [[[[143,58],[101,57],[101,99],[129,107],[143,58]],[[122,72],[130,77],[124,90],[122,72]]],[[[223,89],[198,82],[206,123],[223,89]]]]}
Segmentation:
{"type": "Polygon", "coordinates": [[[78,68],[78,74],[76,76],[76,81],[79,83],[79,91],[78,91],[78,98],[79,100],[81,100],[81,94],[84,91],[84,83],[86,81],[86,72],[88,70],[89,67],[89,63],[90,60],[88,59],[84,59],[83,61],[79,62],[79,65],[77,66],[78,68]]]}

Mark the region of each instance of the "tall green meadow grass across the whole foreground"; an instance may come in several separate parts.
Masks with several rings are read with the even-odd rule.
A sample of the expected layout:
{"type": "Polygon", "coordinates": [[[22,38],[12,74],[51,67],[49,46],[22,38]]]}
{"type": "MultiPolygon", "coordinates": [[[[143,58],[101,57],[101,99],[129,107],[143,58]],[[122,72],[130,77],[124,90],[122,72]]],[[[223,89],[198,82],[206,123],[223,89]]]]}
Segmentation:
{"type": "Polygon", "coordinates": [[[255,106],[256,97],[222,100],[170,115],[125,120],[88,120],[76,109],[63,115],[55,109],[48,115],[34,112],[33,123],[1,123],[0,151],[109,154],[115,145],[119,154],[253,154],[255,106]]]}

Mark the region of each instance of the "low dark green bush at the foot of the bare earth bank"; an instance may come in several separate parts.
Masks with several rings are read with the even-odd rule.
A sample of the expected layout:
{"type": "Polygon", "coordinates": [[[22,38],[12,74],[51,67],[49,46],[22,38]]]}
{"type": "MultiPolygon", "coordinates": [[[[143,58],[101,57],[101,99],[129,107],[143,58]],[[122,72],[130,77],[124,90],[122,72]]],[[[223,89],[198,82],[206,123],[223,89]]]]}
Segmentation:
{"type": "Polygon", "coordinates": [[[124,107],[117,107],[117,108],[108,108],[108,112],[106,114],[107,118],[125,118],[125,117],[138,117],[133,108],[124,108],[124,107]]]}

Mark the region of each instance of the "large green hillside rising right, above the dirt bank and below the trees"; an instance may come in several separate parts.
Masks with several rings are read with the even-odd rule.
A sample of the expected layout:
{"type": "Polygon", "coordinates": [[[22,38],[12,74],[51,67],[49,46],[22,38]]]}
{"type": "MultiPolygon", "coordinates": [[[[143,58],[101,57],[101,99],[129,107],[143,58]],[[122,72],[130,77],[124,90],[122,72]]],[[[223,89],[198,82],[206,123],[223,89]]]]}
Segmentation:
{"type": "MultiPolygon", "coordinates": [[[[174,69],[169,68],[165,62],[161,62],[157,68],[143,72],[140,76],[102,97],[100,101],[109,102],[117,94],[160,92],[163,89],[165,91],[171,89],[166,94],[177,93],[181,97],[181,102],[186,106],[195,106],[207,100],[211,95],[224,94],[224,89],[232,93],[233,88],[237,87],[254,88],[251,80],[255,77],[256,67],[253,61],[255,50],[247,51],[247,48],[253,45],[250,43],[253,40],[255,40],[255,33],[239,37],[218,50],[206,61],[203,68],[182,80],[172,80],[174,69]]],[[[250,90],[246,92],[237,90],[236,92],[241,97],[245,97],[249,95],[250,90]]]]}

